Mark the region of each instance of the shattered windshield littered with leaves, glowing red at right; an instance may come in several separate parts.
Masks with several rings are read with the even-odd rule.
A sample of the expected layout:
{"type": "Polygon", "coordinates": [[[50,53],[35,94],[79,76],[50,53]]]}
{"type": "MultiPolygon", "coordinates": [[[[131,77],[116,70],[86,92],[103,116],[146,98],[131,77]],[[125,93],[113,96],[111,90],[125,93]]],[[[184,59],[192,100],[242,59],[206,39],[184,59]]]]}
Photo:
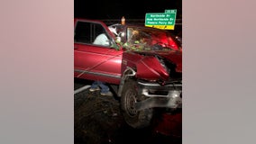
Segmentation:
{"type": "Polygon", "coordinates": [[[179,49],[169,31],[136,27],[127,28],[127,41],[124,46],[134,50],[179,49]]]}

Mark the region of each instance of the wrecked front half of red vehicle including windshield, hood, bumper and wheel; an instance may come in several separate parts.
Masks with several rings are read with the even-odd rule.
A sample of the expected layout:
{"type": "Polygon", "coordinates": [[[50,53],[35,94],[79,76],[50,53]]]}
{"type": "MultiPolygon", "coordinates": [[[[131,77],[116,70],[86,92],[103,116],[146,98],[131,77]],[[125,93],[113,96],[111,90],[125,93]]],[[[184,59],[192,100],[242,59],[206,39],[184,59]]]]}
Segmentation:
{"type": "MultiPolygon", "coordinates": [[[[182,49],[168,31],[127,26],[119,29],[122,78],[118,89],[124,120],[133,128],[149,126],[153,108],[182,108],[182,49]]],[[[118,30],[118,29],[117,29],[118,30]]]]}

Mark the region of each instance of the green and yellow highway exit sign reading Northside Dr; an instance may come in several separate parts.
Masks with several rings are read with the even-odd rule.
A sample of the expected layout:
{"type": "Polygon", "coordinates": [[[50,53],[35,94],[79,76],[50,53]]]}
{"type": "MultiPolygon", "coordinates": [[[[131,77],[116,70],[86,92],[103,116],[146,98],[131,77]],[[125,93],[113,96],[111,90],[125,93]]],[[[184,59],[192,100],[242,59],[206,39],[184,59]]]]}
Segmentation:
{"type": "Polygon", "coordinates": [[[174,30],[177,10],[165,10],[165,13],[151,13],[145,16],[145,26],[174,30]]]}

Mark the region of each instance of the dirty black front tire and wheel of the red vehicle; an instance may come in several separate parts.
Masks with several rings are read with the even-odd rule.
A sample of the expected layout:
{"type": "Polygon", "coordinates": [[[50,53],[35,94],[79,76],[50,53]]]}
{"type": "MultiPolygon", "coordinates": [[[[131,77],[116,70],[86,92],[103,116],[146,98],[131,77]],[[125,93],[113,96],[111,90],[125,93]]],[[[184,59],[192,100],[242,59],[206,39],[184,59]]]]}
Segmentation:
{"type": "Polygon", "coordinates": [[[136,111],[134,103],[144,100],[143,95],[138,94],[138,86],[136,81],[129,79],[123,85],[121,96],[121,110],[123,112],[124,121],[135,129],[148,127],[151,124],[153,115],[152,109],[144,109],[136,111]]]}

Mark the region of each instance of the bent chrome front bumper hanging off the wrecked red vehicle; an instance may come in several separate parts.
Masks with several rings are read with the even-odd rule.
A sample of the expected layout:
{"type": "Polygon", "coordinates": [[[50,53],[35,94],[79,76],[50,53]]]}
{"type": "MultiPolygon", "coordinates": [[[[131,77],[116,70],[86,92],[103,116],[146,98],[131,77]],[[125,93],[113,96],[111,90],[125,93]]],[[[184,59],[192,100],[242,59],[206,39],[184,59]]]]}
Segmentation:
{"type": "Polygon", "coordinates": [[[138,82],[139,94],[147,97],[145,100],[135,103],[137,111],[152,107],[181,108],[182,84],[181,81],[173,81],[168,85],[157,83],[138,82]]]}

